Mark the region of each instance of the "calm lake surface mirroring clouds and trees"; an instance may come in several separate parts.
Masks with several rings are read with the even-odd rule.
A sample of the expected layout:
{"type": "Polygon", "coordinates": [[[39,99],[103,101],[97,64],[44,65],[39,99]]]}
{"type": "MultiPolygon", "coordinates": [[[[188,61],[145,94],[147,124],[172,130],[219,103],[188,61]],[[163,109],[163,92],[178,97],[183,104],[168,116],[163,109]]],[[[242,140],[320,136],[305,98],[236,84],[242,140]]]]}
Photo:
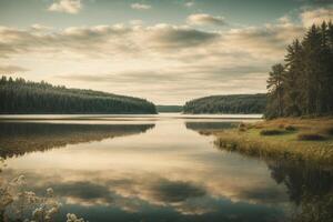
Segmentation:
{"type": "Polygon", "coordinates": [[[238,117],[255,118],[2,117],[1,176],[24,174],[37,193],[53,188],[59,220],[72,212],[90,222],[296,221],[307,205],[330,218],[315,209],[333,192],[332,170],[230,153],[200,133],[232,128],[238,117]]]}

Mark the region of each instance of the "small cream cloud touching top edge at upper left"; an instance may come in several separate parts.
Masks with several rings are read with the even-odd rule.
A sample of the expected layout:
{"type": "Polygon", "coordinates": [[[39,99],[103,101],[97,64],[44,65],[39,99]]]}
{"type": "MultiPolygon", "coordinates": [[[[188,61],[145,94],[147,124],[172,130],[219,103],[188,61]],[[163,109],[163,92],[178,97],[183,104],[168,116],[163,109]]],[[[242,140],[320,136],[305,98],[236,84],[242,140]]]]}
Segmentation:
{"type": "Polygon", "coordinates": [[[75,14],[82,9],[81,0],[60,0],[49,7],[49,11],[75,14]]]}

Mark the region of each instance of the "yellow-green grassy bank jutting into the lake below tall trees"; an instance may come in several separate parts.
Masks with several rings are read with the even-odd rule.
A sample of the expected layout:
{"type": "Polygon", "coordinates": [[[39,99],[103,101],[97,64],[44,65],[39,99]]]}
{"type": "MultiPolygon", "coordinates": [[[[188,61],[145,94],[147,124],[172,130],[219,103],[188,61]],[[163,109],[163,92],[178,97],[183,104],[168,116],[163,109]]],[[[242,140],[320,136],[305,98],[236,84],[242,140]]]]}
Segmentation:
{"type": "Polygon", "coordinates": [[[333,118],[241,123],[236,129],[214,134],[218,137],[215,144],[223,150],[333,164],[333,118]]]}

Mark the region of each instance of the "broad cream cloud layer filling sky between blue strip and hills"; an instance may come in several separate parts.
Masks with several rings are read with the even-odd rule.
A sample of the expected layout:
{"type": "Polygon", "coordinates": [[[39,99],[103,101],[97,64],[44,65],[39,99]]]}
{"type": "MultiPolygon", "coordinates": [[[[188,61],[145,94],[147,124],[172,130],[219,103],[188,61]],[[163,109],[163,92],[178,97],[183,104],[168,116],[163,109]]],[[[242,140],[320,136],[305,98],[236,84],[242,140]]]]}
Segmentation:
{"type": "Polygon", "coordinates": [[[209,94],[264,92],[271,64],[304,32],[287,20],[224,31],[140,23],[0,27],[0,59],[34,67],[40,77],[49,73],[46,80],[52,83],[68,79],[68,87],[112,89],[170,104],[209,94]]]}

